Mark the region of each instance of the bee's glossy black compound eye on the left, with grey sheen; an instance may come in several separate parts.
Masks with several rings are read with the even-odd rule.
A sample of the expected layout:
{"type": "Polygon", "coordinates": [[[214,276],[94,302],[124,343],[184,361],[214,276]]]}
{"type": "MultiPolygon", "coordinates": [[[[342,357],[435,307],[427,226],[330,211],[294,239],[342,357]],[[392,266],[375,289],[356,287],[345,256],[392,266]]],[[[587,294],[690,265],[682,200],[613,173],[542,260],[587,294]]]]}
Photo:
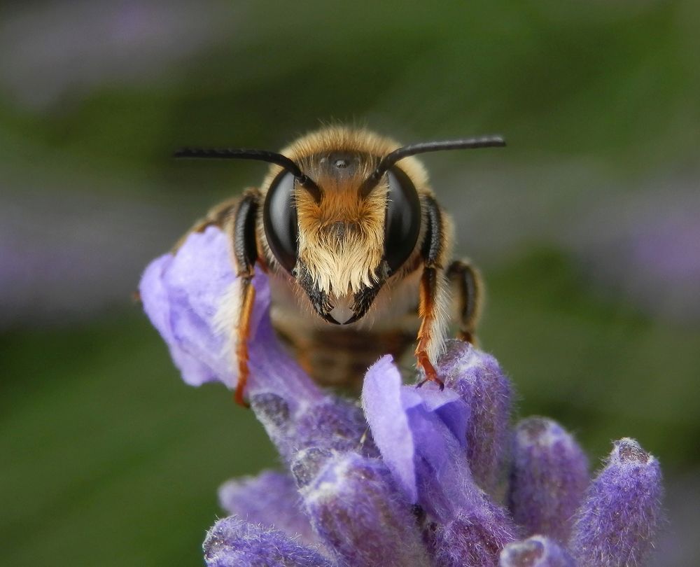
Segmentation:
{"type": "Polygon", "coordinates": [[[299,227],[294,202],[295,181],[289,172],[276,176],[262,207],[262,225],[267,244],[287,272],[291,272],[297,263],[299,227]]]}

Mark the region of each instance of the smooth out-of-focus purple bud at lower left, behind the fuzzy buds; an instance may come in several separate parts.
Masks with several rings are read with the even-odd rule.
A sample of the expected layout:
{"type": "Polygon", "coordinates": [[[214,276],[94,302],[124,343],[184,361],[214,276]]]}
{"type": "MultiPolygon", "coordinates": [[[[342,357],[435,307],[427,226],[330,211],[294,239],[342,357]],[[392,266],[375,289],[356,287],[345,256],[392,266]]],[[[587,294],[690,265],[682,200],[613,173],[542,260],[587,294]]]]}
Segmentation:
{"type": "Polygon", "coordinates": [[[229,514],[251,524],[298,536],[302,543],[316,542],[302,512],[297,485],[289,475],[266,470],[257,477],[231,479],[219,488],[219,503],[229,514]]]}

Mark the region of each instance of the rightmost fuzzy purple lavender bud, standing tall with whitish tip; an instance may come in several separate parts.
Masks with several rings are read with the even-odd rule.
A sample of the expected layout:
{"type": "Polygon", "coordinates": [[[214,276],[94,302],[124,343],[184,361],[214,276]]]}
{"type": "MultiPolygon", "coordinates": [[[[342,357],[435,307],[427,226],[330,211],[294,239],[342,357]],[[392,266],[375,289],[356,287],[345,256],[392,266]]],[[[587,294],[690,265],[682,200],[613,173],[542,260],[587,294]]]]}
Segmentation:
{"type": "Polygon", "coordinates": [[[616,441],[577,514],[571,549],[584,565],[639,565],[654,547],[661,512],[659,461],[633,439],[616,441]]]}

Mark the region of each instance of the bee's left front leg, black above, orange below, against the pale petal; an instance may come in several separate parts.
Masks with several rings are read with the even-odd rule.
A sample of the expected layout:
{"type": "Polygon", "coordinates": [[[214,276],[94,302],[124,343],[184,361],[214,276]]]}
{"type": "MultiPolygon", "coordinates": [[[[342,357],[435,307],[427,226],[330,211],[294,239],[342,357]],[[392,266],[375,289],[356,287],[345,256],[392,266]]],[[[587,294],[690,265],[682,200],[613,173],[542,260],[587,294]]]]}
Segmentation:
{"type": "Polygon", "coordinates": [[[236,359],[238,361],[238,384],[236,385],[235,400],[239,405],[248,406],[243,393],[248,381],[248,337],[251,333],[251,315],[255,303],[255,288],[253,274],[255,262],[258,261],[258,244],[255,238],[255,222],[258,217],[260,193],[256,189],[248,189],[243,197],[226,216],[225,232],[233,240],[233,257],[236,274],[240,281],[240,309],[236,325],[236,359]]]}

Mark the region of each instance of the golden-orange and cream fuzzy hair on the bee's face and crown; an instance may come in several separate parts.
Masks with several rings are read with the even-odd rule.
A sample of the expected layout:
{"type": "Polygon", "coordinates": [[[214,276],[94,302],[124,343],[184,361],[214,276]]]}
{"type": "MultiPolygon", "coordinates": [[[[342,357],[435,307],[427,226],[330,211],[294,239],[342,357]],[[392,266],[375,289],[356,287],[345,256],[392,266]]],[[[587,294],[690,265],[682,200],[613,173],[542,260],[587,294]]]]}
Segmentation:
{"type": "MultiPolygon", "coordinates": [[[[298,258],[314,286],[336,304],[378,281],[388,186],[384,179],[365,198],[359,189],[379,160],[398,147],[392,139],[366,130],[327,127],[281,152],[321,189],[321,202],[302,188],[296,190],[298,258]]],[[[418,160],[406,158],[400,168],[419,194],[430,193],[418,160]]],[[[280,171],[272,167],[262,187],[269,187],[280,171]]]]}

